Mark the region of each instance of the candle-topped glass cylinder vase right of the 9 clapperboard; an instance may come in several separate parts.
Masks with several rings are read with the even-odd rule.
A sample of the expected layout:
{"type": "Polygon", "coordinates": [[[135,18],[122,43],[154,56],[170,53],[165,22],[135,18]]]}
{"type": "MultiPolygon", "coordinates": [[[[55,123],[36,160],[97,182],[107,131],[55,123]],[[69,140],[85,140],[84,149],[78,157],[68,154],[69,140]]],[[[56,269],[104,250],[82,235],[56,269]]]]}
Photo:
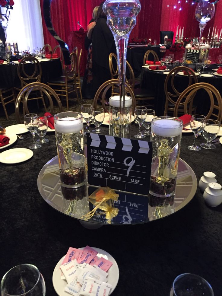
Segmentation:
{"type": "Polygon", "coordinates": [[[153,196],[165,198],[175,193],[182,127],[182,120],[174,117],[163,116],[152,120],[150,194],[153,196]]]}

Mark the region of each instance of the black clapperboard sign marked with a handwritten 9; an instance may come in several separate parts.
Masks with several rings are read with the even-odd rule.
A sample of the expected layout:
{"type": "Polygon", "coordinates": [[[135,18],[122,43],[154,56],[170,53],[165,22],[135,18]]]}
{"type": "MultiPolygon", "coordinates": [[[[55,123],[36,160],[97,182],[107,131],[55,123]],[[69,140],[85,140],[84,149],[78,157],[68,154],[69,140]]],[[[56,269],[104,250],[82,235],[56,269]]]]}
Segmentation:
{"type": "Polygon", "coordinates": [[[87,133],[88,183],[148,195],[152,142],[87,133]]]}

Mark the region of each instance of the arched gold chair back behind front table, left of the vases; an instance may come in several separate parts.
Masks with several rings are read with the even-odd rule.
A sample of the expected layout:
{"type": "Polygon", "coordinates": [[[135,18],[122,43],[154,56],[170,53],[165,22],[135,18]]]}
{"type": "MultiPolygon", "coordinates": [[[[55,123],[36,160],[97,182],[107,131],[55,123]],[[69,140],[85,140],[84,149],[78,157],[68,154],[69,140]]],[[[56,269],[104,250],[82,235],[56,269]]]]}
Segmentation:
{"type": "Polygon", "coordinates": [[[28,100],[29,100],[29,96],[31,94],[31,92],[33,91],[42,91],[46,97],[49,100],[49,113],[53,114],[53,100],[52,100],[52,96],[54,97],[54,99],[56,100],[58,106],[59,106],[59,112],[62,112],[62,103],[58,97],[58,95],[56,94],[56,92],[50,88],[47,84],[41,83],[41,82],[32,82],[30,84],[27,84],[24,86],[24,88],[21,89],[21,91],[19,92],[16,102],[15,102],[15,118],[17,123],[24,123],[24,116],[20,116],[20,112],[19,112],[19,106],[21,101],[24,100],[24,108],[25,108],[25,113],[28,114],[30,113],[28,110],[28,100]],[[23,99],[24,98],[24,99],[23,99]]]}

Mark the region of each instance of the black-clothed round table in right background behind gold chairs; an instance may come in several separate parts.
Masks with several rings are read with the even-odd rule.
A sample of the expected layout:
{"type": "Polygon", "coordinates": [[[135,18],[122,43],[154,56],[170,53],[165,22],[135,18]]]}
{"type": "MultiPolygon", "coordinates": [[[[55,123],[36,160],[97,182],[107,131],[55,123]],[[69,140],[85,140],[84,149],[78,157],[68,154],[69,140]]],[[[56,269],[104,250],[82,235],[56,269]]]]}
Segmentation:
{"type": "MultiPolygon", "coordinates": [[[[186,65],[187,66],[187,65],[186,65]]],[[[217,64],[212,64],[209,66],[209,68],[205,69],[204,72],[201,72],[201,74],[212,74],[213,72],[212,69],[217,68],[217,64]]],[[[170,66],[170,70],[173,69],[172,66],[170,66]]],[[[165,105],[165,92],[164,92],[164,82],[166,79],[166,74],[163,74],[164,71],[152,71],[149,70],[148,68],[143,68],[142,67],[142,72],[141,72],[141,88],[147,88],[147,89],[153,89],[154,90],[154,96],[155,96],[155,101],[154,101],[154,110],[156,111],[157,116],[163,116],[164,112],[164,105],[165,105]]],[[[222,96],[222,76],[213,76],[213,77],[202,77],[202,76],[197,76],[198,82],[206,82],[209,84],[212,84],[217,88],[219,91],[220,95],[222,96]]],[[[187,88],[188,86],[188,77],[186,76],[181,76],[181,75],[176,75],[174,78],[174,85],[178,89],[178,91],[183,91],[187,88]]],[[[197,100],[197,112],[198,114],[207,114],[208,112],[208,95],[205,93],[205,91],[198,91],[196,94],[196,100],[197,100]],[[203,100],[207,97],[207,99],[204,101],[203,100]]]]}

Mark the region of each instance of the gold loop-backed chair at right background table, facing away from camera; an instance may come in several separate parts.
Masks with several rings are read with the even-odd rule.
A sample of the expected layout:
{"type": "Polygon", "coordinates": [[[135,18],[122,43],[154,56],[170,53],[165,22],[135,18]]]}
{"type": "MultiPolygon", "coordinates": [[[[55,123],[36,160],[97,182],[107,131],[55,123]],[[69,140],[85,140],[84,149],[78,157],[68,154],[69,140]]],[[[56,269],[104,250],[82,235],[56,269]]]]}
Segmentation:
{"type": "MultiPolygon", "coordinates": [[[[168,75],[166,76],[165,82],[164,82],[164,91],[165,91],[165,95],[166,95],[166,101],[165,101],[165,107],[164,107],[164,116],[166,116],[168,114],[168,112],[170,111],[171,113],[174,112],[174,108],[176,105],[176,102],[179,98],[179,96],[182,94],[182,92],[184,90],[178,90],[178,88],[181,87],[181,84],[175,84],[174,83],[174,78],[176,76],[177,73],[182,72],[182,71],[186,71],[187,72],[187,77],[188,77],[188,85],[187,87],[189,87],[190,85],[197,83],[197,76],[195,75],[194,71],[192,71],[192,69],[188,68],[188,67],[176,67],[173,68],[168,75]]],[[[192,96],[192,99],[194,98],[195,93],[192,96]]],[[[179,109],[181,110],[181,112],[183,113],[183,106],[184,106],[184,102],[181,101],[180,105],[179,105],[179,109]]],[[[191,103],[189,109],[189,114],[191,114],[193,111],[196,110],[196,107],[193,106],[193,104],[191,103]]],[[[169,115],[169,114],[168,114],[169,115]]]]}

